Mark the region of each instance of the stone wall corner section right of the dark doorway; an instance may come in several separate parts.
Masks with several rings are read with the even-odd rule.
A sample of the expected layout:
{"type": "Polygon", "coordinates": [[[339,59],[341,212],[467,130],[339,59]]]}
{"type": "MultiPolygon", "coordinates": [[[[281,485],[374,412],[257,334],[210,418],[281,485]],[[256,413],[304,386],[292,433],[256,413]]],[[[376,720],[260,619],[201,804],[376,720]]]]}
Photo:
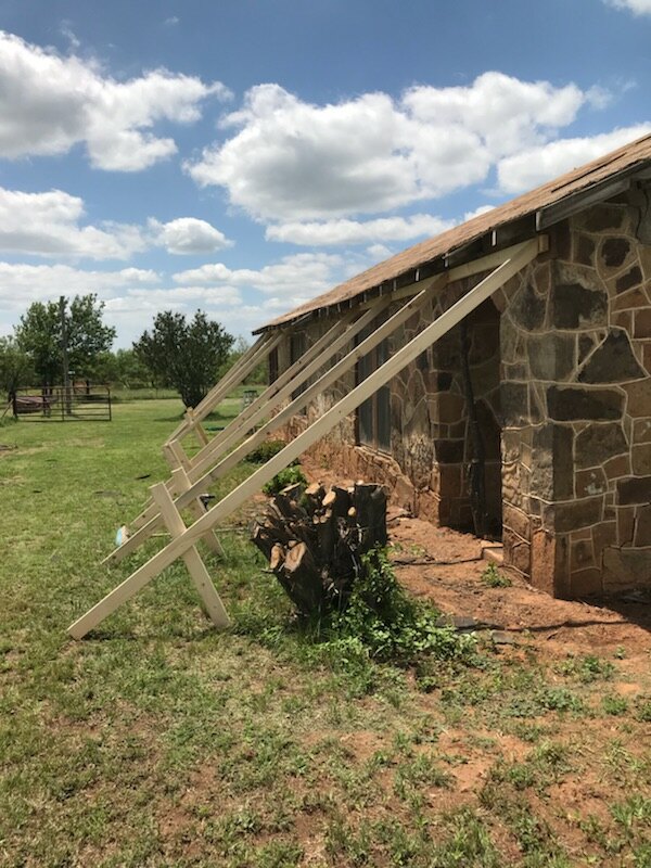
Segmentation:
{"type": "Polygon", "coordinates": [[[502,316],[505,373],[528,383],[531,422],[505,433],[528,465],[505,545],[526,566],[528,544],[523,572],[554,596],[651,587],[651,221],[638,203],[635,191],[557,227],[549,292],[523,282],[502,316]]]}

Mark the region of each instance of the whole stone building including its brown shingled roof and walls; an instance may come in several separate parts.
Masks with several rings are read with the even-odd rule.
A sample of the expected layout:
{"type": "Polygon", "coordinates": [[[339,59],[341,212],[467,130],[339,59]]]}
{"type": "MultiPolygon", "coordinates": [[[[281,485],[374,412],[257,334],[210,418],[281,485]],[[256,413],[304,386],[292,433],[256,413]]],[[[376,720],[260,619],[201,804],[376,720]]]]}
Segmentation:
{"type": "Polygon", "coordinates": [[[348,311],[390,298],[374,327],[426,280],[454,278],[290,433],[469,295],[496,254],[535,238],[541,252],[314,448],[343,475],[386,483],[413,514],[469,532],[478,472],[484,534],[553,596],[651,588],[651,136],[261,329],[284,335],[271,356],[282,371],[348,311]]]}

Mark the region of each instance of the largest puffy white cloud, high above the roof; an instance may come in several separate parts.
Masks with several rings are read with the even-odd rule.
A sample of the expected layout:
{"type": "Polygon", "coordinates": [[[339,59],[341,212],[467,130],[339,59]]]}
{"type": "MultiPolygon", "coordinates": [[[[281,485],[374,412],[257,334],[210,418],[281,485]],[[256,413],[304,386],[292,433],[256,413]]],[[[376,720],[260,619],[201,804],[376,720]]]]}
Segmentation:
{"type": "Polygon", "coordinates": [[[221,186],[252,216],[332,220],[445,195],[486,179],[522,148],[552,139],[603,91],[489,72],[465,87],[410,88],[315,105],[278,85],[245,95],[222,128],[234,132],[186,168],[221,186]]]}

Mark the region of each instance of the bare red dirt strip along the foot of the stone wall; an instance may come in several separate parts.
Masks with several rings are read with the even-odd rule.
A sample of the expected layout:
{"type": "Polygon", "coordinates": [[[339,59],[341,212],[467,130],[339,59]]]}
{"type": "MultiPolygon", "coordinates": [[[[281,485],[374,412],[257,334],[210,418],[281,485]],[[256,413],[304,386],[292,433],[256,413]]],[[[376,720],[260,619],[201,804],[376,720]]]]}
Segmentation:
{"type": "MultiPolygon", "coordinates": [[[[310,481],[350,485],[304,457],[310,481]]],[[[550,658],[567,654],[612,654],[625,648],[631,669],[648,674],[651,653],[651,604],[635,595],[620,600],[583,602],[554,600],[519,575],[501,569],[511,579],[506,588],[482,580],[487,566],[482,552],[495,546],[447,527],[434,527],[404,510],[388,509],[390,557],[400,582],[416,596],[431,600],[443,613],[474,618],[508,633],[518,642],[537,638],[550,658]]],[[[628,666],[627,666],[628,668],[628,666]]],[[[630,672],[633,674],[633,672],[630,672]]]]}

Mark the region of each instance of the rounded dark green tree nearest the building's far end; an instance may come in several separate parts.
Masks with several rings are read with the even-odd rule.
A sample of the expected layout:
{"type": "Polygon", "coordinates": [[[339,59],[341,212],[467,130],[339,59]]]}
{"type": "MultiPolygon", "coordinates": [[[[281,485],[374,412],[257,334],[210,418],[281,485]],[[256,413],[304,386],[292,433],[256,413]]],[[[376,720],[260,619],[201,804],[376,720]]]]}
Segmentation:
{"type": "Polygon", "coordinates": [[[196,407],[216,382],[233,341],[201,310],[190,322],[183,314],[164,310],[156,315],[151,334],[145,331],[136,341],[133,350],[159,385],[173,386],[186,407],[196,407]]]}

